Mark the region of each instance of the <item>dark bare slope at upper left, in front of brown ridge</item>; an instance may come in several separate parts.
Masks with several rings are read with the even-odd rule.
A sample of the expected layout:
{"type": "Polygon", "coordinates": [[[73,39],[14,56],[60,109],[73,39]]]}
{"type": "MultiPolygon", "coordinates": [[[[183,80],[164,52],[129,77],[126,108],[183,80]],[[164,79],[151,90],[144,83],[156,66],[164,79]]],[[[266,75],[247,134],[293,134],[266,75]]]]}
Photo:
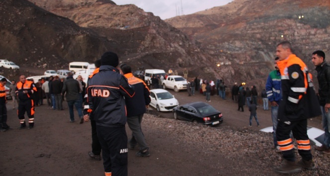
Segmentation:
{"type": "Polygon", "coordinates": [[[0,56],[20,66],[56,69],[78,58],[93,61],[111,43],[26,0],[1,1],[0,14],[0,56]]]}

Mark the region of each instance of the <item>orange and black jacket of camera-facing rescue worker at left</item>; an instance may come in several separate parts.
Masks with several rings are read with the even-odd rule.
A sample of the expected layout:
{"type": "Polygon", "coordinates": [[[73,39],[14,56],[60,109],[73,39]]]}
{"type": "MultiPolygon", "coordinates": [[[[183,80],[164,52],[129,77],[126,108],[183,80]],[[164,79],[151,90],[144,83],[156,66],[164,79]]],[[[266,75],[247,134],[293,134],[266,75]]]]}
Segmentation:
{"type": "Polygon", "coordinates": [[[31,81],[26,80],[25,83],[18,82],[16,84],[15,93],[20,101],[32,99],[33,98],[32,94],[34,91],[37,91],[37,88],[35,87],[34,83],[31,81]],[[26,90],[27,93],[23,93],[23,90],[26,90]]]}

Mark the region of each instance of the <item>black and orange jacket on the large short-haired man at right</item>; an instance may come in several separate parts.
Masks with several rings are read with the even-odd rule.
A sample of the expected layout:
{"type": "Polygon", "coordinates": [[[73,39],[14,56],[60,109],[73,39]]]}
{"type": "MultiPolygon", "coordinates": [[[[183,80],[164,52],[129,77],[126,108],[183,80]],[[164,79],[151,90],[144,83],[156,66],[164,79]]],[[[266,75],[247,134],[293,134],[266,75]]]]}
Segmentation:
{"type": "MultiPolygon", "coordinates": [[[[287,59],[277,62],[281,73],[282,100],[278,109],[278,120],[293,121],[307,118],[309,110],[304,107],[308,99],[303,98],[306,94],[311,75],[307,77],[306,64],[296,55],[291,54],[287,59]]],[[[318,103],[318,102],[316,102],[318,103]]]]}

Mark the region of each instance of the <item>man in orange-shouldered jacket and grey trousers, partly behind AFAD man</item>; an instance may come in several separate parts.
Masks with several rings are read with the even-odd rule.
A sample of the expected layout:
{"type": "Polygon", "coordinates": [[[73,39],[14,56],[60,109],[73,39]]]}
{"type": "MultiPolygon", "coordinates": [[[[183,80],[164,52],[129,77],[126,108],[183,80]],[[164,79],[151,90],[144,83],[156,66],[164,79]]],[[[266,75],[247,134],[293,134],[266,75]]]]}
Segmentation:
{"type": "Polygon", "coordinates": [[[134,149],[136,144],[139,144],[140,151],[136,153],[138,157],[149,157],[149,147],[146,143],[142,133],[141,122],[143,114],[148,108],[150,99],[150,92],[144,81],[135,78],[132,74],[132,69],[128,65],[120,68],[128,84],[134,87],[135,94],[132,98],[125,98],[127,106],[127,124],[132,130],[132,138],[129,140],[130,149],[134,149]]]}

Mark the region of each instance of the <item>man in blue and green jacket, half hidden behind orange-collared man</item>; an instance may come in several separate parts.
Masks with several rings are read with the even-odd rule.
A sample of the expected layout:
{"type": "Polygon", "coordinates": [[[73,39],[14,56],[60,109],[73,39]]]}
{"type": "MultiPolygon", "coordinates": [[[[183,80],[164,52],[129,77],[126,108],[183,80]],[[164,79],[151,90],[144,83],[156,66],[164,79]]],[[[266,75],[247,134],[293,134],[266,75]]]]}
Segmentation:
{"type": "Polygon", "coordinates": [[[273,122],[273,139],[274,139],[274,146],[276,149],[276,152],[280,153],[280,150],[277,145],[276,140],[276,127],[277,127],[277,111],[278,111],[278,104],[281,101],[281,74],[280,70],[277,67],[277,62],[279,58],[275,58],[275,70],[271,71],[269,73],[269,76],[267,78],[266,82],[266,93],[267,97],[271,104],[271,120],[273,122]]]}

